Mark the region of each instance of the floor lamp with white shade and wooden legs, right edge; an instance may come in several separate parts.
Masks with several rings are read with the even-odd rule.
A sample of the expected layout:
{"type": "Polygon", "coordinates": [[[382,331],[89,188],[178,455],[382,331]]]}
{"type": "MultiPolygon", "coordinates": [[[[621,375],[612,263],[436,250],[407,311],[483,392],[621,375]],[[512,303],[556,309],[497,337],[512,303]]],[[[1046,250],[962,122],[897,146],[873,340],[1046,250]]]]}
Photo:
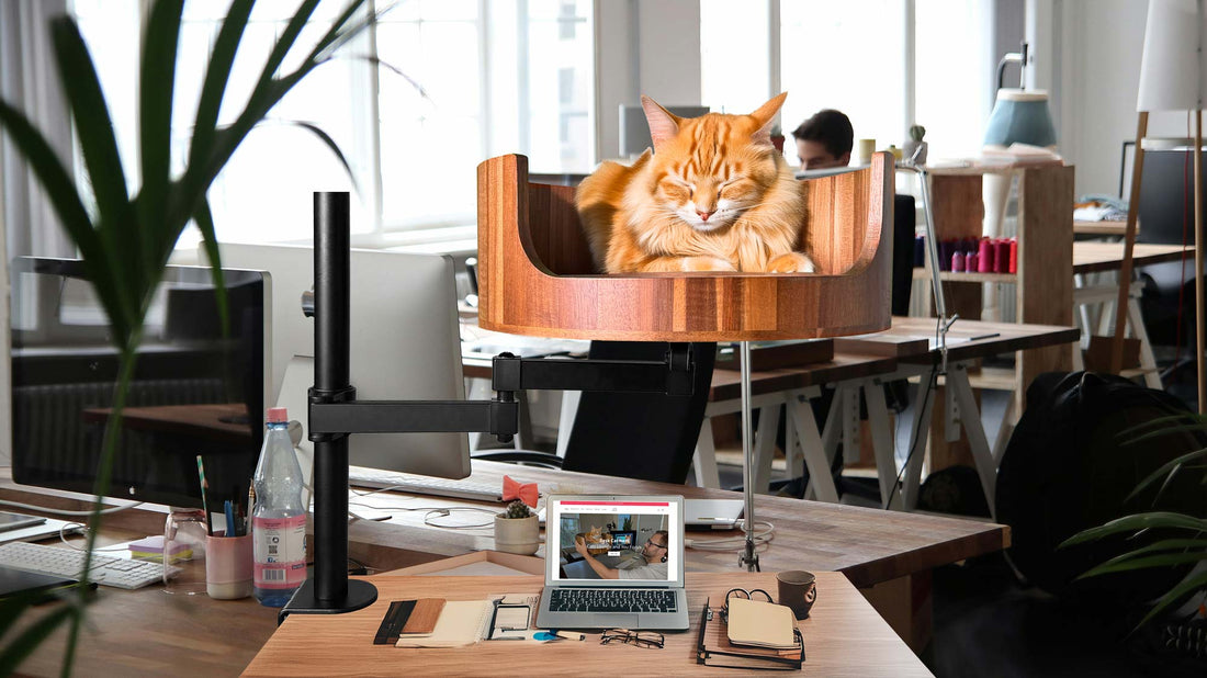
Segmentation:
{"type": "Polygon", "coordinates": [[[1143,139],[1148,133],[1150,111],[1194,111],[1194,189],[1195,189],[1195,369],[1199,386],[1199,413],[1207,413],[1207,388],[1203,380],[1203,284],[1202,284],[1202,107],[1207,93],[1207,13],[1203,0],[1151,0],[1144,29],[1141,58],[1139,93],[1136,98],[1136,160],[1132,168],[1131,200],[1124,238],[1124,262],[1119,271],[1119,298],[1115,305],[1115,334],[1110,346],[1110,370],[1123,369],[1124,320],[1132,276],[1132,251],[1136,244],[1136,216],[1144,169],[1143,139]]]}

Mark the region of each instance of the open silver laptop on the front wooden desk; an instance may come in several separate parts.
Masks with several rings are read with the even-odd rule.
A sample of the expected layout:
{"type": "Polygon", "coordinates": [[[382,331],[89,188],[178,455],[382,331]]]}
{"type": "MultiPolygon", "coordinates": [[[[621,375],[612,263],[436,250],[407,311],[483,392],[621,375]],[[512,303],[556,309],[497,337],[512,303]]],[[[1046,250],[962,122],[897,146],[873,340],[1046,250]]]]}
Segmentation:
{"type": "Polygon", "coordinates": [[[538,627],[687,631],[683,497],[554,495],[546,512],[538,627]]]}

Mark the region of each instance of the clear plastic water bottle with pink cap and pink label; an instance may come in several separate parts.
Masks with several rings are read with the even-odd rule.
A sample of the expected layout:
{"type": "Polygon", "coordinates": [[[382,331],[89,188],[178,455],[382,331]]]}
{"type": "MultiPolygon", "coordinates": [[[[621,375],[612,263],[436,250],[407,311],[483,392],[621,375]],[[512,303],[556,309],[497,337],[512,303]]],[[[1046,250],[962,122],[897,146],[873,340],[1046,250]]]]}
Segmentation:
{"type": "Polygon", "coordinates": [[[255,550],[252,592],[260,604],[282,607],[305,581],[305,518],[302,467],[290,440],[285,408],[268,408],[268,433],[252,478],[255,550]]]}

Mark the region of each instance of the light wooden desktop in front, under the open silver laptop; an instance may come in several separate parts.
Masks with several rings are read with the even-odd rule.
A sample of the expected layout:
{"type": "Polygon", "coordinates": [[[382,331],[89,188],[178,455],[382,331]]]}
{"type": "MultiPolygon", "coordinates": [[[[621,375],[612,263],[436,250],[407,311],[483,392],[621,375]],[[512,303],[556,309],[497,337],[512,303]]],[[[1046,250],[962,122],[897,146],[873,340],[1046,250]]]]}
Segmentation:
{"type": "MultiPolygon", "coordinates": [[[[641,649],[601,645],[596,633],[585,642],[549,644],[482,642],[468,648],[395,648],[372,639],[389,601],[438,596],[482,600],[491,594],[536,592],[540,577],[392,577],[369,578],[378,602],[354,613],[293,615],[247,665],[244,676],[611,676],[654,671],[659,676],[737,676],[733,668],[695,664],[700,614],[705,600],[713,604],[734,586],[776,591],[774,574],[688,574],[692,629],[666,633],[666,647],[641,649]],[[523,671],[519,671],[524,667],[523,671]]],[[[817,602],[809,619],[798,623],[805,639],[804,676],[870,677],[931,676],[926,666],[893,633],[846,579],[817,572],[817,602]]]]}

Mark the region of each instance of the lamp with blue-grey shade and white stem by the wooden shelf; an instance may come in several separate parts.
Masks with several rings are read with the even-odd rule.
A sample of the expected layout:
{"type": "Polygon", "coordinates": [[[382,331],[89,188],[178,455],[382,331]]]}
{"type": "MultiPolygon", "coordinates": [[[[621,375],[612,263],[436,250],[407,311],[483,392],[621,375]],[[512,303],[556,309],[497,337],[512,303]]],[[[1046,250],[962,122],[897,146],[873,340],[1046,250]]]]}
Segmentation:
{"type": "MultiPolygon", "coordinates": [[[[1027,43],[1020,52],[1007,54],[997,65],[997,100],[985,127],[985,147],[1005,150],[1011,144],[1030,146],[1055,146],[1056,128],[1048,112],[1048,93],[1040,89],[1026,88],[1026,68],[1028,59],[1027,43]],[[1019,64],[1019,88],[1004,88],[1003,75],[1005,65],[1019,64]]],[[[981,232],[987,238],[1002,234],[1002,222],[1005,218],[1005,203],[1010,193],[1011,173],[986,173],[982,177],[981,197],[985,200],[985,222],[981,232]]],[[[984,320],[999,321],[1001,311],[997,294],[986,292],[984,320]]]]}

